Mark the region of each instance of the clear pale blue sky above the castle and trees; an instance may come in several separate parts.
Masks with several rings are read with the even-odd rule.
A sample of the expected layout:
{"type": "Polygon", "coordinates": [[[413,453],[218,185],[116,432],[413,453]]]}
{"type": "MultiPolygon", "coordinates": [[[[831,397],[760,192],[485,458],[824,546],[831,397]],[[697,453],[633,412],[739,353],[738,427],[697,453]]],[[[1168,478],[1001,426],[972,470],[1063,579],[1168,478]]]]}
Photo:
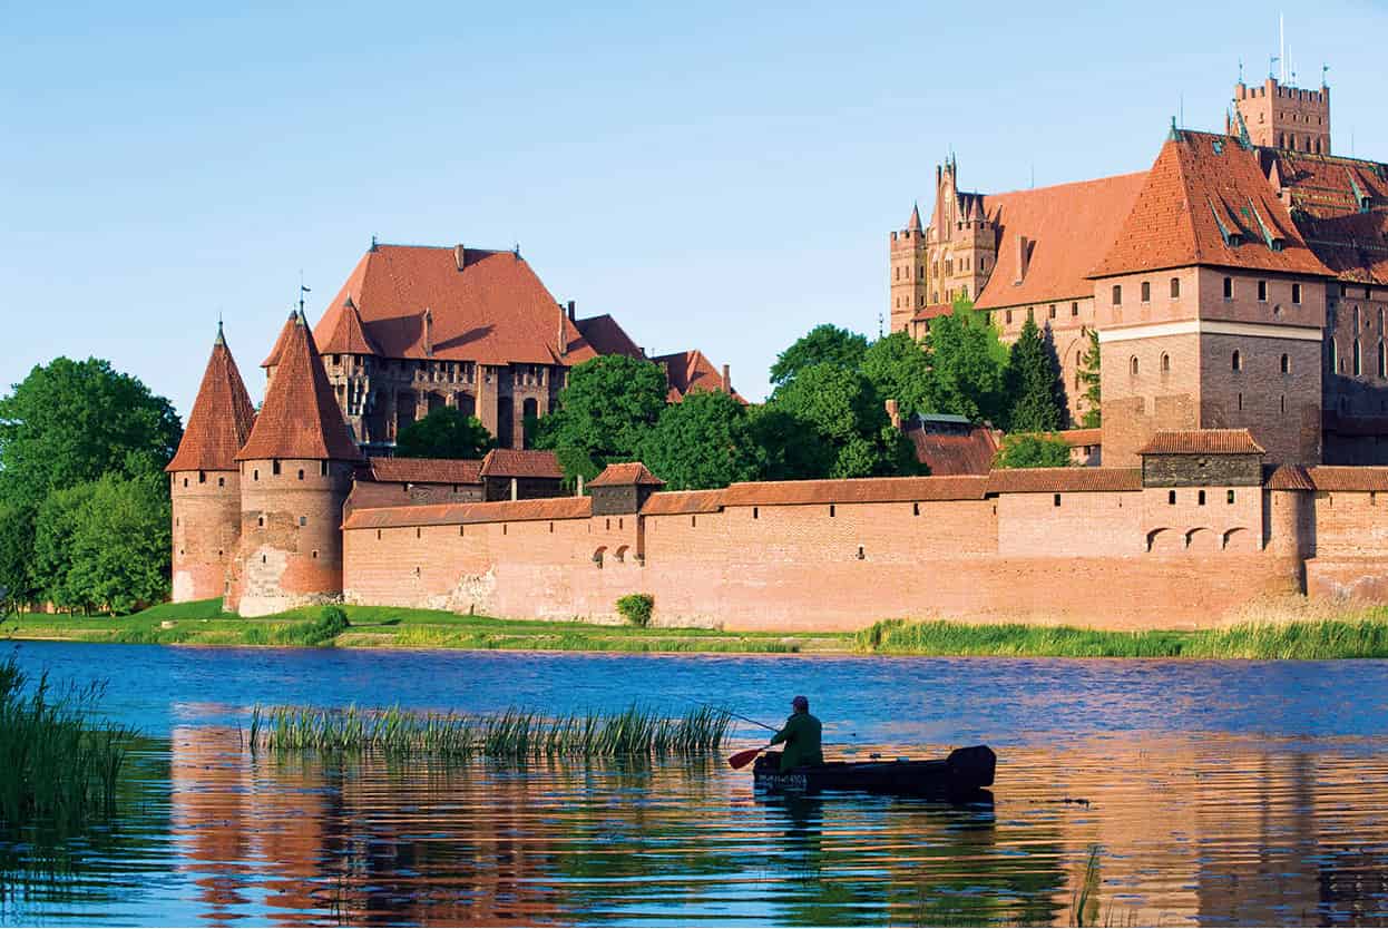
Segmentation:
{"type": "MultiPolygon", "coordinates": [[[[1302,7],[1305,8],[1305,7],[1302,7]]],[[[0,6],[0,386],[111,358],[192,405],[217,326],[257,365],[383,242],[511,247],[582,315],[698,347],[751,397],[819,322],[876,333],[934,165],[1009,190],[1221,128],[1256,4],[0,6]]],[[[1388,160],[1382,3],[1291,12],[1332,146],[1388,160]]]]}

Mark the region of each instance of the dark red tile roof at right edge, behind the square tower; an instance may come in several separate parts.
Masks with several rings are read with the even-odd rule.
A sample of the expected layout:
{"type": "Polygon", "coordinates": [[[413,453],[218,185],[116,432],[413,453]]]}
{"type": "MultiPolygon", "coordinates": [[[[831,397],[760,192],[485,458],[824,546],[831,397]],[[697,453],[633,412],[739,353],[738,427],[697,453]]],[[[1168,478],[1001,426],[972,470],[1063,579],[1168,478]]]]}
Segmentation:
{"type": "Polygon", "coordinates": [[[1280,149],[1259,154],[1316,257],[1341,281],[1388,283],[1388,165],[1280,149]]]}

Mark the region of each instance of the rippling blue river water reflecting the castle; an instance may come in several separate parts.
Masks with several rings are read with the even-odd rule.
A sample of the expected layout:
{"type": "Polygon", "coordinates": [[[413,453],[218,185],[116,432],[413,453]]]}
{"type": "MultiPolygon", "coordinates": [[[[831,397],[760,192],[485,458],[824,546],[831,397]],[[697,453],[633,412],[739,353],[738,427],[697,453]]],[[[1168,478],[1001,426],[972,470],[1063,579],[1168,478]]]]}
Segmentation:
{"type": "Polygon", "coordinates": [[[0,850],[7,923],[1388,922],[1388,662],[19,654],[107,678],[107,711],[147,742],[112,829],[46,871],[0,850]],[[257,701],[679,712],[693,696],[777,722],[794,693],[829,754],[991,744],[994,803],[781,798],[716,758],[251,758],[237,730],[257,701]]]}

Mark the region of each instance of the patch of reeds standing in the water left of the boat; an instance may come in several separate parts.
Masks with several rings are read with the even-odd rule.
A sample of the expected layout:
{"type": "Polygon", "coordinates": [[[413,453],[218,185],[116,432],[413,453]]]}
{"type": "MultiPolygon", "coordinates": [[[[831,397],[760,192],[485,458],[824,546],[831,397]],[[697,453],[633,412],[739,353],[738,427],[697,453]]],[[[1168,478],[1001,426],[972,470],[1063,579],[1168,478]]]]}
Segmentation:
{"type": "Polygon", "coordinates": [[[731,715],[698,707],[669,718],[632,705],[622,712],[544,717],[529,710],[497,715],[389,710],[255,707],[251,751],[380,751],[443,758],[694,757],[716,751],[731,715]]]}

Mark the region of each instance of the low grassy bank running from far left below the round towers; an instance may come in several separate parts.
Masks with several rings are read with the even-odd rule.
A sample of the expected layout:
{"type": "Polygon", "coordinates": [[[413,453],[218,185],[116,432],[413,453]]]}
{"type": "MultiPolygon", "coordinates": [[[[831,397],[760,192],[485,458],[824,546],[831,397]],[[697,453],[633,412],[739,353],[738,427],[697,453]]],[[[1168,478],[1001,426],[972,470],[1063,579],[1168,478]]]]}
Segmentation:
{"type": "Polygon", "coordinates": [[[161,604],[129,617],[26,614],[0,626],[12,639],[65,639],[128,644],[339,646],[358,648],[500,648],[518,651],[741,653],[847,651],[843,633],[786,636],[715,629],[605,626],[462,617],[443,610],[341,607],[348,626],[322,622],[322,607],[243,619],[221,600],[161,604]]]}

